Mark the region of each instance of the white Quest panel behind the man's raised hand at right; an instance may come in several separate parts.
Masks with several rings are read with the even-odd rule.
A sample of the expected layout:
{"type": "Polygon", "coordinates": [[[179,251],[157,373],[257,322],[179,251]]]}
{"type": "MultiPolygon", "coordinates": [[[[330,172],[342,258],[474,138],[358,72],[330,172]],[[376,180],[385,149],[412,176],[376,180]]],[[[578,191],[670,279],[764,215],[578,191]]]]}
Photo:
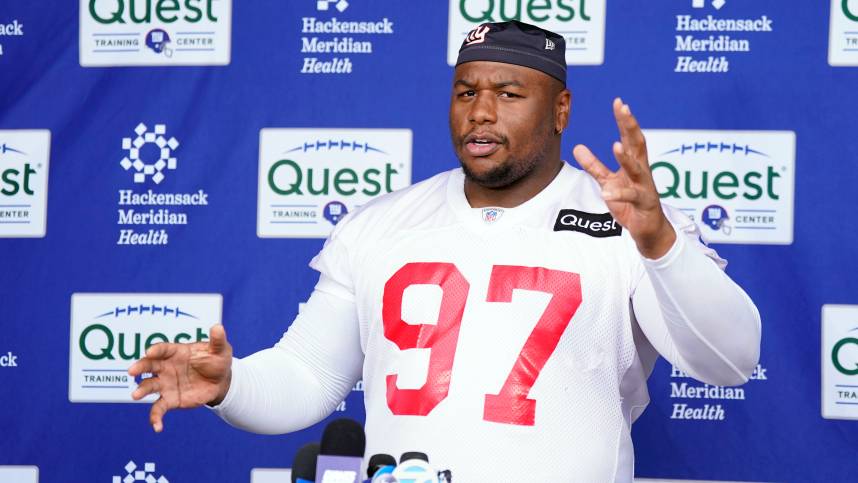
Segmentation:
{"type": "Polygon", "coordinates": [[[793,239],[795,133],[644,131],[663,203],[714,243],[789,245],[793,239]]]}

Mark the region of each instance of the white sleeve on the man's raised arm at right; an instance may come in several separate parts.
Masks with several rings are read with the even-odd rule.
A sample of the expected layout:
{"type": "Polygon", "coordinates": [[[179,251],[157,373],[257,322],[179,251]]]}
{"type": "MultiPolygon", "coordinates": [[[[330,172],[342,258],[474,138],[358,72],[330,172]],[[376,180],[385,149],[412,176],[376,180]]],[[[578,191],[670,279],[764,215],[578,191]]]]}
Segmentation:
{"type": "Polygon", "coordinates": [[[676,242],[657,260],[638,255],[635,319],[659,354],[696,379],[744,383],[759,360],[759,311],[724,272],[726,261],[702,243],[697,225],[665,212],[676,242]]]}

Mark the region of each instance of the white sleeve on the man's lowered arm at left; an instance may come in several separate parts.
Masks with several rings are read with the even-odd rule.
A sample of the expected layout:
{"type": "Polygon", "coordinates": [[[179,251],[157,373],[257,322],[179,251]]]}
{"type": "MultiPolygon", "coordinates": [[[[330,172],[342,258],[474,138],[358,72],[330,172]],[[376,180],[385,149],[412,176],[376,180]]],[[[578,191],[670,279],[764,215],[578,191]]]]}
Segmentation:
{"type": "MultiPolygon", "coordinates": [[[[328,283],[323,275],[319,286],[328,283]]],[[[229,391],[212,409],[247,431],[297,431],[331,414],[362,367],[354,303],[315,290],[274,347],[233,359],[229,391]]]]}

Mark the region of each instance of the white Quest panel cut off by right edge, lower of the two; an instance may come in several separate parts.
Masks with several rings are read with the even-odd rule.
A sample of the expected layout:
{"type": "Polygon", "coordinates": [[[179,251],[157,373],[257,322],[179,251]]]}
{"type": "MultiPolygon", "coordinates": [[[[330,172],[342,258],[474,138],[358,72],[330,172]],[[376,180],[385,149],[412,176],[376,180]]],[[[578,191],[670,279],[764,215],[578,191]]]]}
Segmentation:
{"type": "Polygon", "coordinates": [[[858,419],[858,305],[822,306],[822,417],[858,419]]]}

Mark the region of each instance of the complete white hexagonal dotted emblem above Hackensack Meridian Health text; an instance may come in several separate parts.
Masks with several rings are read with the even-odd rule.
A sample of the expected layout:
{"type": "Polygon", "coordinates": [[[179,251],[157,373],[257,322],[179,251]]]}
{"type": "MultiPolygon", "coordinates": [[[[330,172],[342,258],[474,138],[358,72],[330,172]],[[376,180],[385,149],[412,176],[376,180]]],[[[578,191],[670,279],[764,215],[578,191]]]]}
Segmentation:
{"type": "Polygon", "coordinates": [[[155,184],[164,181],[164,169],[176,169],[176,158],[173,157],[173,151],[179,147],[179,141],[171,137],[169,140],[164,137],[167,133],[167,126],[164,124],[155,124],[153,131],[148,131],[148,128],[142,122],[134,128],[137,137],[122,138],[122,149],[128,151],[128,154],[122,158],[119,163],[125,171],[134,168],[134,182],[145,183],[146,177],[151,176],[155,184]],[[157,148],[158,158],[154,162],[145,162],[141,159],[140,151],[145,149],[147,144],[153,144],[157,148]]]}

